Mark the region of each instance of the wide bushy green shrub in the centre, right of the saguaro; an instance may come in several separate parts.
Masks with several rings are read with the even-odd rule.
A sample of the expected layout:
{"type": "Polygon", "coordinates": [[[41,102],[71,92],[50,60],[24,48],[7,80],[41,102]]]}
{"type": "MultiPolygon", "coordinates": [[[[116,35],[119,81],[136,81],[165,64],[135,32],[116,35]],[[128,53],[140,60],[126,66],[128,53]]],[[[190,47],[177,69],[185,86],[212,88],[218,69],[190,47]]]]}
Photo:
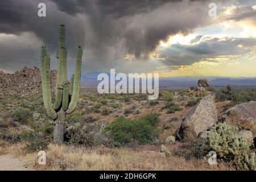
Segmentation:
{"type": "Polygon", "coordinates": [[[137,140],[139,143],[150,143],[157,134],[154,133],[159,119],[156,114],[147,114],[137,119],[119,117],[106,127],[106,133],[114,141],[125,144],[137,140]]]}

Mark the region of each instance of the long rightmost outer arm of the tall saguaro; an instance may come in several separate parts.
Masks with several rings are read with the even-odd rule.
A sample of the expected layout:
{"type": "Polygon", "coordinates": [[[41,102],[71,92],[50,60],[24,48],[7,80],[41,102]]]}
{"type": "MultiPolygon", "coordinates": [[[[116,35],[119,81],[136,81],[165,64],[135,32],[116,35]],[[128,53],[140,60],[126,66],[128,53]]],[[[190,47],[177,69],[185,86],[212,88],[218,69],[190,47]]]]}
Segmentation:
{"type": "Polygon", "coordinates": [[[76,71],[75,77],[73,82],[73,92],[71,103],[69,104],[68,110],[66,111],[67,114],[73,113],[76,109],[77,102],[79,101],[80,95],[80,80],[81,80],[81,67],[82,67],[82,47],[79,46],[76,54],[76,71]]]}

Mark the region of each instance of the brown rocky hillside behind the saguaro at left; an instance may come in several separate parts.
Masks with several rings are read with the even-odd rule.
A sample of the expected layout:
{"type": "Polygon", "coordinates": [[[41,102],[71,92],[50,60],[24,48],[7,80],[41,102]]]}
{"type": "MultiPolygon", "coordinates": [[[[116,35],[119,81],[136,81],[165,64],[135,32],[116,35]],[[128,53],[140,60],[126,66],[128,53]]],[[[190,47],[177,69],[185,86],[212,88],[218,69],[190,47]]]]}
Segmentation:
{"type": "MultiPolygon", "coordinates": [[[[52,90],[55,88],[56,71],[51,71],[52,90]]],[[[41,92],[41,77],[39,68],[24,67],[13,74],[0,71],[0,92],[9,94],[30,94],[41,92]]]]}

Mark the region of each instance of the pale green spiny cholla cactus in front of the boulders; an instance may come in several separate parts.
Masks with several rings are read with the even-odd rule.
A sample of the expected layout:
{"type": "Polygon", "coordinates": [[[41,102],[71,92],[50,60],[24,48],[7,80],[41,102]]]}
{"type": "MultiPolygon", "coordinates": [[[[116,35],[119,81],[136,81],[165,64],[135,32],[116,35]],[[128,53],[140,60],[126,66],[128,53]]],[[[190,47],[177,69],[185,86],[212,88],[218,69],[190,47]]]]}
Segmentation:
{"type": "Polygon", "coordinates": [[[224,158],[245,155],[249,150],[249,144],[245,139],[237,136],[237,131],[237,127],[225,123],[214,126],[207,136],[210,149],[224,158]]]}

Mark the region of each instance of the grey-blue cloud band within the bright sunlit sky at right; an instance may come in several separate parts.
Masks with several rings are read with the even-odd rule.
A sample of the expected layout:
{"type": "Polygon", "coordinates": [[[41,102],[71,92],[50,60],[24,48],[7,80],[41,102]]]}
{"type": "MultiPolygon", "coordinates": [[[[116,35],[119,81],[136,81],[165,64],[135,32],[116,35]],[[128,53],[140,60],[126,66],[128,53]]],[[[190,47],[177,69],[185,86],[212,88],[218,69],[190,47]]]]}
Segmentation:
{"type": "Polygon", "coordinates": [[[172,44],[160,51],[159,57],[165,59],[166,65],[191,65],[203,58],[244,55],[256,48],[254,38],[213,38],[201,42],[198,38],[192,45],[172,44]]]}

